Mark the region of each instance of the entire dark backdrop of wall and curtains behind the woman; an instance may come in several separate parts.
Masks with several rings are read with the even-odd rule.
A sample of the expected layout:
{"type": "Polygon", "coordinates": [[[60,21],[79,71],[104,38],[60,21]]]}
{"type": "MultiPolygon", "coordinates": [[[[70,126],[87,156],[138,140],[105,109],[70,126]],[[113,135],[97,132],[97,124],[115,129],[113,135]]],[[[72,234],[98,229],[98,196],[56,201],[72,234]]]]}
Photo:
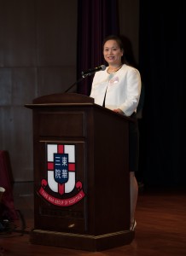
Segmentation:
{"type": "MultiPolygon", "coordinates": [[[[32,99],[64,92],[102,65],[102,39],[125,38],[145,88],[140,174],[147,186],[185,186],[183,1],[0,0],[0,150],[15,181],[32,180],[32,99]]],[[[126,47],[127,46],[127,47],[126,47]]],[[[89,95],[91,79],[73,91],[89,95]]]]}

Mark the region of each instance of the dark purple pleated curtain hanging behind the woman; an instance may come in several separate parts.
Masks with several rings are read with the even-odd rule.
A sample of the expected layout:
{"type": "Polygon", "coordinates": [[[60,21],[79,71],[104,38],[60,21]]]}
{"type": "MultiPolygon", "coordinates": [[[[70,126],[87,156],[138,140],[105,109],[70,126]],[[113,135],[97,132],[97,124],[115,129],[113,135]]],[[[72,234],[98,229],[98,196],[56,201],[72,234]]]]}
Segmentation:
{"type": "MultiPolygon", "coordinates": [[[[77,79],[82,71],[106,64],[102,57],[103,38],[119,33],[118,1],[78,0],[77,79]]],[[[78,93],[90,95],[93,76],[78,83],[78,93]]]]}

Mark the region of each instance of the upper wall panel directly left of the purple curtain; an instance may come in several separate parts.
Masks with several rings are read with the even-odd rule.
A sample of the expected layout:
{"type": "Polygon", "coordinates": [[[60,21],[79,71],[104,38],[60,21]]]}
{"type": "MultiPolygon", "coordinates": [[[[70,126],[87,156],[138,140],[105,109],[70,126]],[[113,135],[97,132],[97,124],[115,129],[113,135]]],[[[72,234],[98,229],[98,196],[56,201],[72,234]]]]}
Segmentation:
{"type": "Polygon", "coordinates": [[[37,1],[38,66],[68,67],[76,60],[77,3],[37,1]]]}

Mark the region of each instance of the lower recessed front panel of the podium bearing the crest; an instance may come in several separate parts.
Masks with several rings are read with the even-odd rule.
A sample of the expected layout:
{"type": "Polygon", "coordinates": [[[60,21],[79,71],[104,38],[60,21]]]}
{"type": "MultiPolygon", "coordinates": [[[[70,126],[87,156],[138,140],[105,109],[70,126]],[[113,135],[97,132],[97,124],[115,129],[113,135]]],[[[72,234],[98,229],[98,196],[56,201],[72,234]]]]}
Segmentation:
{"type": "Polygon", "coordinates": [[[86,232],[84,142],[44,140],[37,152],[35,229],[86,232]]]}

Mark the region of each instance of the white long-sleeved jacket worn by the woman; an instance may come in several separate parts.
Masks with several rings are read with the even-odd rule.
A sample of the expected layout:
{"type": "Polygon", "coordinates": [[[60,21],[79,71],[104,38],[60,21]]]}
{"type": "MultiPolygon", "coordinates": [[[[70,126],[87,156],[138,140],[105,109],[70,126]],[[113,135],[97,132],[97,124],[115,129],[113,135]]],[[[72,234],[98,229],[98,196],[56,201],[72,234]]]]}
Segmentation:
{"type": "Polygon", "coordinates": [[[102,106],[107,90],[105,108],[120,108],[126,116],[130,116],[137,110],[141,86],[141,76],[136,68],[124,64],[119,71],[109,74],[107,67],[95,73],[90,97],[102,106]]]}

